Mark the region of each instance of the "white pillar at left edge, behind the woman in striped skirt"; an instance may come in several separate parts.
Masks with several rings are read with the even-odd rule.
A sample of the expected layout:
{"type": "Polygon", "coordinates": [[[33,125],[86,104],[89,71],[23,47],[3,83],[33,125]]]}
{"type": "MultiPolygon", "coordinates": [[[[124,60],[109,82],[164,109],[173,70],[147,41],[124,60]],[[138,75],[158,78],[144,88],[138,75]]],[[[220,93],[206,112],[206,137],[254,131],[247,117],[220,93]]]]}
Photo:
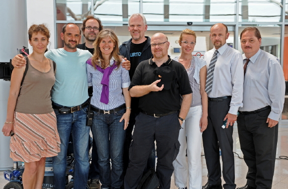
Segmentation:
{"type": "MultiPolygon", "coordinates": [[[[8,63],[17,55],[17,48],[28,44],[25,0],[1,0],[0,18],[0,62],[8,63]]],[[[6,120],[9,88],[9,81],[0,80],[0,129],[6,120]]],[[[0,132],[0,170],[13,166],[9,141],[10,137],[0,132]]]]}

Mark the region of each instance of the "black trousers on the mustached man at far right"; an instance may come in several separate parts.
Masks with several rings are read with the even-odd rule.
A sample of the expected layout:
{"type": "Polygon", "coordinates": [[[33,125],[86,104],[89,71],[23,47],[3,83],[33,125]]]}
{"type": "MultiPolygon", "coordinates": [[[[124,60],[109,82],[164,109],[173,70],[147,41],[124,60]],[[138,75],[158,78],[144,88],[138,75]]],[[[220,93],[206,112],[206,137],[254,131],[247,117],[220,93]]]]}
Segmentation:
{"type": "Polygon", "coordinates": [[[240,147],[248,166],[247,185],[271,189],[278,141],[278,124],[266,123],[271,109],[237,118],[240,147]]]}

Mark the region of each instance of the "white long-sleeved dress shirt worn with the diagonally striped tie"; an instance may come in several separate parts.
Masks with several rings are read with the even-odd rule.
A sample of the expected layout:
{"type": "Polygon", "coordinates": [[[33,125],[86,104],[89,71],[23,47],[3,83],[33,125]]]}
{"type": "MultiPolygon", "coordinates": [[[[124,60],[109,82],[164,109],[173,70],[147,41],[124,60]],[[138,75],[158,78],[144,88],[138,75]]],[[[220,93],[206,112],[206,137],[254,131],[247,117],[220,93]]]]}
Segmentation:
{"type": "MultiPolygon", "coordinates": [[[[215,51],[214,47],[205,53],[207,70],[215,51]]],[[[229,47],[227,43],[220,47],[218,52],[212,91],[208,93],[208,97],[232,96],[228,113],[237,115],[238,108],[243,106],[243,59],[241,53],[229,47]]]]}

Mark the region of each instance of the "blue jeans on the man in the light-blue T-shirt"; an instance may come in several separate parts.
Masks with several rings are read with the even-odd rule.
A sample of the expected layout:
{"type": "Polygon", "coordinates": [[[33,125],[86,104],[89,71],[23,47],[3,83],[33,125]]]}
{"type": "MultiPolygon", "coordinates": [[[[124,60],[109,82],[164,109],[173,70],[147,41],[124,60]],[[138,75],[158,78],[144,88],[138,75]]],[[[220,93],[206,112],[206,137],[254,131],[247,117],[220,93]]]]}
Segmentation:
{"type": "MultiPolygon", "coordinates": [[[[62,106],[56,103],[53,104],[62,106]]],[[[67,148],[71,132],[75,159],[74,189],[86,188],[90,165],[88,158],[90,127],[86,126],[86,109],[87,108],[83,108],[71,114],[60,114],[58,110],[54,110],[61,140],[61,152],[53,157],[54,189],[65,189],[66,186],[67,148]]]]}

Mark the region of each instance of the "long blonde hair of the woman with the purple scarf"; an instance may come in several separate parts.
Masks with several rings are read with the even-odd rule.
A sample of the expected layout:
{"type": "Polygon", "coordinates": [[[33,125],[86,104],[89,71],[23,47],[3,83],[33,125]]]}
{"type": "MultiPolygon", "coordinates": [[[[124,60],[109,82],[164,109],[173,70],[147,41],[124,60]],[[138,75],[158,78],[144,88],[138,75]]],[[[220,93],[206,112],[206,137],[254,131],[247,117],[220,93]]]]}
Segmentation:
{"type": "Polygon", "coordinates": [[[103,38],[106,38],[106,37],[110,37],[114,43],[114,48],[113,48],[113,51],[109,57],[109,59],[111,59],[112,57],[114,57],[115,61],[116,61],[116,65],[117,65],[117,69],[119,68],[120,66],[120,63],[122,61],[122,57],[119,55],[119,40],[118,40],[118,37],[116,36],[116,34],[114,33],[113,30],[111,29],[103,29],[102,31],[100,31],[100,33],[98,34],[95,42],[93,43],[93,46],[94,46],[94,54],[93,54],[93,57],[92,57],[92,65],[94,68],[96,68],[96,65],[104,68],[104,64],[101,65],[101,62],[104,63],[104,58],[102,56],[102,53],[100,51],[100,47],[99,47],[99,44],[101,43],[101,40],[103,38]],[[100,61],[99,61],[100,60],[100,61]]]}

